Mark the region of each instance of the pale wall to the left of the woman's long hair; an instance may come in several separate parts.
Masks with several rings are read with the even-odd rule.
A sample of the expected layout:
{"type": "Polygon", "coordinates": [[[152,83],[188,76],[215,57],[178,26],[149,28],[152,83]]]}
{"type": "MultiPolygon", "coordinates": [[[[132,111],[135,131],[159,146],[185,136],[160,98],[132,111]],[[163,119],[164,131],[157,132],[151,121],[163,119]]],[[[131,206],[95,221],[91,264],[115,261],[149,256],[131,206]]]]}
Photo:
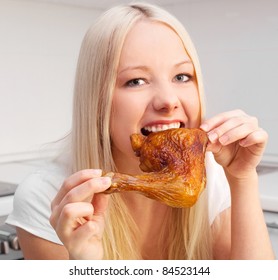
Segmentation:
{"type": "Polygon", "coordinates": [[[0,1],[0,162],[48,154],[69,131],[78,51],[98,14],[0,1]]]}

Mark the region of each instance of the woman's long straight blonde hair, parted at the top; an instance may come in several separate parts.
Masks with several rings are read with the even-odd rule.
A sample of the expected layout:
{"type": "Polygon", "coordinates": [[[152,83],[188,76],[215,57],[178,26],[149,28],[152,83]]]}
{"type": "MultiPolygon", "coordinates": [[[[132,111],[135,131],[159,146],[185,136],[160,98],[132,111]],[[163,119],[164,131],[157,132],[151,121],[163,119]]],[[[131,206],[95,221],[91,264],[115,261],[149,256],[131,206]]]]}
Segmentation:
{"type": "MultiPolygon", "coordinates": [[[[199,60],[182,24],[168,12],[146,3],[114,7],[88,30],[78,59],[72,127],[72,171],[101,168],[115,171],[109,131],[112,97],[121,49],[126,35],[139,20],[166,24],[181,38],[197,77],[200,114],[203,84],[199,60]]],[[[201,116],[202,117],[202,116],[201,116]]],[[[194,207],[169,209],[161,229],[168,259],[210,259],[211,240],[206,191],[194,207]],[[167,240],[165,240],[167,236],[167,240]]],[[[140,259],[138,229],[118,194],[111,195],[104,233],[106,259],[140,259]]]]}

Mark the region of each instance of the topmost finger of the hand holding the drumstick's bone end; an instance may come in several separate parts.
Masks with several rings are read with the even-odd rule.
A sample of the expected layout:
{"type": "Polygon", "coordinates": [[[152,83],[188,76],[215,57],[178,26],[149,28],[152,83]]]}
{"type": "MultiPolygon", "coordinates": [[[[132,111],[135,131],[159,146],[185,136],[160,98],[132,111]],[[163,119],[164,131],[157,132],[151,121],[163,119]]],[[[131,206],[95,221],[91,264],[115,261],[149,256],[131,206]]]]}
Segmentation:
{"type": "Polygon", "coordinates": [[[74,187],[80,185],[92,178],[101,176],[102,171],[100,169],[84,169],[80,170],[71,176],[69,176],[63,183],[56,197],[51,203],[51,209],[56,205],[60,204],[64,196],[74,187]]]}

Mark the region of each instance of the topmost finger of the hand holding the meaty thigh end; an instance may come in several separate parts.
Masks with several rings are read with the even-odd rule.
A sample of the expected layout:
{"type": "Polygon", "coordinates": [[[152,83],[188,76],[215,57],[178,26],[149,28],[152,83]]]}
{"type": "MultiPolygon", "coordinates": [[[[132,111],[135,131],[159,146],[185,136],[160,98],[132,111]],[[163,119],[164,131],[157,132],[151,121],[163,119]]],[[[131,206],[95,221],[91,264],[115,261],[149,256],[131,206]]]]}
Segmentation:
{"type": "Polygon", "coordinates": [[[205,120],[201,124],[200,128],[205,132],[209,132],[231,118],[243,117],[243,116],[247,116],[247,115],[242,110],[233,110],[233,111],[224,112],[205,120]]]}

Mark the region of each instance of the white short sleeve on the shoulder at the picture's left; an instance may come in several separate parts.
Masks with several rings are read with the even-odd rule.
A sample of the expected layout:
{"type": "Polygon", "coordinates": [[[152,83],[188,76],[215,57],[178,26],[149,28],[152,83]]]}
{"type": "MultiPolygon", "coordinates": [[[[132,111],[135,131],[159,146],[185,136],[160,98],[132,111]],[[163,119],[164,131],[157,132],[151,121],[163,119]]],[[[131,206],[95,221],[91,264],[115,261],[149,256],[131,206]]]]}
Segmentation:
{"type": "Polygon", "coordinates": [[[29,175],[16,189],[13,211],[6,223],[20,227],[38,237],[62,244],[49,222],[51,201],[63,182],[58,166],[29,175]]]}

